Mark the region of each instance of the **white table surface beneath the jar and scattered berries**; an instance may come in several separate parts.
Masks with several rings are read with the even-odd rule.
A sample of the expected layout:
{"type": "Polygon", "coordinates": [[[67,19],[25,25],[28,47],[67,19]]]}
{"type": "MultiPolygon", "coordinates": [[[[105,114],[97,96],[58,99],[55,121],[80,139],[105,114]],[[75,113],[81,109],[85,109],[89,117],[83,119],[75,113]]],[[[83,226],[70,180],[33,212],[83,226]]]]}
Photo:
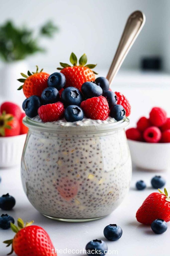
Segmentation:
{"type": "MultiPolygon", "coordinates": [[[[120,256],[160,256],[169,255],[169,236],[170,225],[163,234],[155,234],[149,226],[144,226],[137,222],[135,214],[143,200],[152,192],[156,191],[151,188],[150,180],[155,172],[137,170],[133,168],[131,187],[128,195],[122,204],[111,215],[96,221],[68,223],[51,220],[41,215],[28,201],[23,192],[20,179],[20,166],[11,169],[0,169],[2,178],[0,184],[0,195],[9,193],[16,199],[16,205],[11,211],[0,210],[0,214],[8,213],[13,216],[15,221],[20,217],[24,221],[34,220],[35,225],[42,226],[49,234],[56,249],[76,249],[83,250],[87,242],[92,239],[102,239],[107,241],[103,236],[103,229],[109,224],[117,224],[123,230],[122,237],[115,242],[107,241],[108,250],[115,250],[112,254],[120,256]],[[143,191],[135,189],[137,180],[143,179],[148,188],[143,191]]],[[[166,178],[166,188],[170,191],[170,172],[168,170],[161,174],[166,178]]],[[[0,255],[4,256],[9,252],[9,247],[2,243],[4,240],[11,239],[14,233],[9,230],[0,230],[0,255]]],[[[74,251],[73,251],[74,252],[74,251]]],[[[62,255],[83,256],[81,253],[58,253],[62,255]]]]}

